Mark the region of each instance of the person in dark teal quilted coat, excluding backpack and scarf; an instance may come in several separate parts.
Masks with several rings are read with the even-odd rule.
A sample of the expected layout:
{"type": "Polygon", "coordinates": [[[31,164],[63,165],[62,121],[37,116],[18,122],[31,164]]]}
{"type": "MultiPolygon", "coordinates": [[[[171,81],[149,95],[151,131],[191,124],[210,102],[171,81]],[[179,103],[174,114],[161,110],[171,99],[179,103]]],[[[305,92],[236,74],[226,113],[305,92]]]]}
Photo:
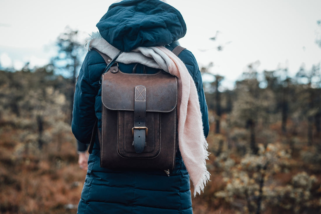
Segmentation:
{"type": "MultiPolygon", "coordinates": [[[[179,11],[160,0],[125,0],[114,3],[97,27],[104,41],[123,52],[155,46],[163,46],[171,51],[178,45],[177,40],[186,33],[186,24],[179,11]]],[[[90,47],[89,50],[76,84],[72,121],[82,164],[83,159],[86,159],[83,152],[87,146],[84,145],[90,142],[96,119],[98,128],[101,127],[99,81],[106,67],[100,54],[90,47]]],[[[194,80],[198,94],[197,105],[202,115],[201,135],[205,139],[209,123],[201,73],[194,55],[187,49],[178,58],[194,80]]],[[[118,62],[118,67],[123,72],[132,71],[135,64],[118,62]]],[[[159,71],[152,67],[146,70],[148,74],[159,71]]],[[[136,72],[143,73],[143,66],[138,64],[136,72]]],[[[96,136],[88,158],[88,170],[77,213],[193,213],[190,175],[181,155],[179,137],[178,142],[175,168],[167,176],[163,170],[155,169],[100,168],[100,145],[96,136]]],[[[86,168],[86,165],[82,167],[86,168]]],[[[201,186],[208,180],[209,174],[204,176],[206,179],[202,180],[201,186]]]]}

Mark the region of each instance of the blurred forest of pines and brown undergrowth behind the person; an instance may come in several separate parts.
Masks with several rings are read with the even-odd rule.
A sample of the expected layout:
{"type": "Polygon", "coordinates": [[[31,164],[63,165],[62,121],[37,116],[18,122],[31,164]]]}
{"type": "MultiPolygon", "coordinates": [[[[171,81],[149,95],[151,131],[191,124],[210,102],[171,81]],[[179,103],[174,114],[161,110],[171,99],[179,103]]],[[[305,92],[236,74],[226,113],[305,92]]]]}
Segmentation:
{"type": "MultiPolygon", "coordinates": [[[[1,213],[76,213],[86,174],[70,127],[85,54],[77,33],[61,33],[46,66],[0,70],[1,213]]],[[[258,66],[248,64],[233,90],[200,68],[214,80],[204,81],[212,175],[195,214],[321,212],[320,63],[295,76],[258,66]]]]}

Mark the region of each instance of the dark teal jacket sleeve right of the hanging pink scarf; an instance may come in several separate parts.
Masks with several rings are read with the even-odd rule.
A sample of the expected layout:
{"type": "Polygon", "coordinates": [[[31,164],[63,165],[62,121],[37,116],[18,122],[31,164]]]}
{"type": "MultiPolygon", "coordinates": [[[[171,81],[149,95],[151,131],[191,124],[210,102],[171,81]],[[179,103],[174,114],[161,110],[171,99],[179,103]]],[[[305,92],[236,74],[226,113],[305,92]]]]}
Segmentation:
{"type": "Polygon", "coordinates": [[[198,93],[198,101],[200,103],[200,109],[202,113],[203,132],[204,132],[204,136],[207,137],[209,132],[208,110],[207,110],[207,104],[205,100],[201,72],[198,68],[198,64],[194,55],[189,50],[186,50],[186,49],[183,50],[178,57],[184,62],[188,72],[190,73],[190,75],[194,80],[197,93],[198,93]]]}

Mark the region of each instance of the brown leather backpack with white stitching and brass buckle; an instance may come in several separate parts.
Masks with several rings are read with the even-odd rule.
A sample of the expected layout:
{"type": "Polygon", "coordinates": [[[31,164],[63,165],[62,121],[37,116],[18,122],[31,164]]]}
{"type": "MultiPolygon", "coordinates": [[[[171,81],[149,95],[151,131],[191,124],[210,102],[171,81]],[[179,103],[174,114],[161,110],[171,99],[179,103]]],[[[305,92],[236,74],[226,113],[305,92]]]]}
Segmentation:
{"type": "MultiPolygon", "coordinates": [[[[183,49],[177,46],[173,53],[178,56],[183,49]]],[[[99,53],[107,64],[115,61],[99,53]]],[[[178,148],[177,78],[162,70],[134,71],[135,67],[133,73],[123,73],[115,63],[102,74],[100,167],[173,169],[178,148]]]]}

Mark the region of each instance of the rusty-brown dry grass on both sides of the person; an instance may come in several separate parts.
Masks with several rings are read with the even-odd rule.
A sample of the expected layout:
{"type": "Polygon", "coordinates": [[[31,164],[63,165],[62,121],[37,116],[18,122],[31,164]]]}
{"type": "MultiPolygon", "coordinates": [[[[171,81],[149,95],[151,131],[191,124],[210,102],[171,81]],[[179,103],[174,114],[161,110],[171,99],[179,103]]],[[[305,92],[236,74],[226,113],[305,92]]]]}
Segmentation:
{"type": "MultiPolygon", "coordinates": [[[[24,122],[30,123],[27,120],[24,122]]],[[[70,129],[53,135],[40,151],[36,141],[37,130],[28,131],[24,126],[19,128],[16,123],[3,120],[0,124],[0,213],[75,213],[86,172],[78,167],[74,137],[70,129]]],[[[233,202],[228,202],[215,196],[216,192],[224,191],[227,185],[223,175],[226,169],[217,165],[218,142],[224,142],[221,152],[225,153],[230,161],[234,161],[235,165],[240,164],[244,155],[239,153],[238,142],[231,140],[232,143],[228,145],[228,134],[214,134],[214,128],[214,125],[211,125],[211,133],[207,138],[209,151],[212,153],[207,162],[211,182],[201,195],[192,198],[194,213],[248,213],[246,200],[235,197],[233,202]]],[[[280,124],[271,125],[270,129],[279,130],[280,124]]],[[[53,128],[48,126],[46,130],[51,133],[53,128]]],[[[222,131],[227,133],[226,130],[222,131]]],[[[246,132],[236,129],[235,133],[244,135],[246,132]]],[[[283,149],[291,150],[287,138],[282,137],[278,131],[275,133],[275,141],[279,142],[283,149]]],[[[293,144],[295,155],[288,160],[287,171],[281,168],[271,174],[265,184],[286,186],[291,184],[295,174],[304,171],[316,176],[317,182],[311,191],[314,196],[321,196],[321,167],[320,163],[315,163],[319,156],[314,147],[302,144],[301,138],[302,136],[296,136],[293,144]]],[[[225,161],[220,159],[219,163],[225,164],[225,161]]],[[[193,187],[191,191],[193,192],[193,187]]],[[[310,202],[317,204],[318,200],[319,198],[312,198],[310,202]]],[[[317,206],[311,206],[311,209],[305,211],[317,213],[317,206]]],[[[265,207],[261,213],[291,213],[291,210],[265,207]]]]}

